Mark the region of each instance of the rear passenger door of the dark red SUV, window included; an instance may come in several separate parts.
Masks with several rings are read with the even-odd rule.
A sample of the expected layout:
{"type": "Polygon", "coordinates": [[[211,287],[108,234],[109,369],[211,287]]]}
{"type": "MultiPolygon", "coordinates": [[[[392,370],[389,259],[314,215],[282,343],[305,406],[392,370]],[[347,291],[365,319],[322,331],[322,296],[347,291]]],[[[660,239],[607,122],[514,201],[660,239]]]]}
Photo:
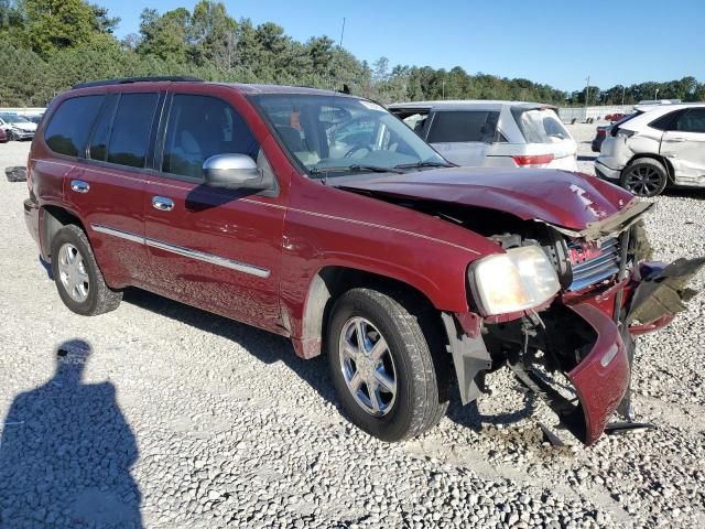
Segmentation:
{"type": "Polygon", "coordinates": [[[148,271],[144,186],[163,98],[156,91],[106,96],[85,155],[65,179],[64,193],[112,287],[140,285],[148,271]]]}

